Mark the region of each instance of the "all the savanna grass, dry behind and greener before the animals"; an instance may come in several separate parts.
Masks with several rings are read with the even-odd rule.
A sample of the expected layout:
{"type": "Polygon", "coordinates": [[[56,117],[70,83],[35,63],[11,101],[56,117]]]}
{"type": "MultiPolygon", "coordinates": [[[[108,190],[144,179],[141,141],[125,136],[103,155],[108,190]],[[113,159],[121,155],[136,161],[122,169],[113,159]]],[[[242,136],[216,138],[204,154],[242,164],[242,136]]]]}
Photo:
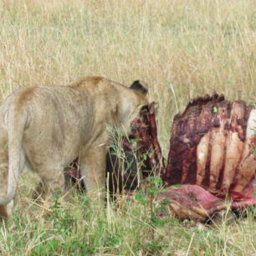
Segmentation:
{"type": "MultiPolygon", "coordinates": [[[[198,95],[256,102],[253,0],[11,1],[0,3],[0,97],[19,86],[102,75],[145,80],[159,103],[161,146],[172,118],[198,95]]],[[[255,211],[202,228],[151,218],[143,200],[101,207],[70,192],[38,204],[25,174],[2,255],[256,255],[255,211]]],[[[137,197],[139,198],[139,197],[137,197]]]]}

